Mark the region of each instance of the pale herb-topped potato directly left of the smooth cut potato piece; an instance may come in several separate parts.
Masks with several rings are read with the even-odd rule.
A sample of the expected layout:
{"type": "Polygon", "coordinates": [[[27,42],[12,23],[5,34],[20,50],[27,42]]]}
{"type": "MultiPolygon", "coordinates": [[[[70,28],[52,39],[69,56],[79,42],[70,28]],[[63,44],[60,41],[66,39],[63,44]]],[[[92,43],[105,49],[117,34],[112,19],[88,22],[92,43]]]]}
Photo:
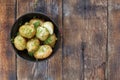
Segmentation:
{"type": "Polygon", "coordinates": [[[39,38],[41,41],[45,41],[49,36],[49,32],[44,27],[38,27],[36,32],[36,37],[39,38]]]}

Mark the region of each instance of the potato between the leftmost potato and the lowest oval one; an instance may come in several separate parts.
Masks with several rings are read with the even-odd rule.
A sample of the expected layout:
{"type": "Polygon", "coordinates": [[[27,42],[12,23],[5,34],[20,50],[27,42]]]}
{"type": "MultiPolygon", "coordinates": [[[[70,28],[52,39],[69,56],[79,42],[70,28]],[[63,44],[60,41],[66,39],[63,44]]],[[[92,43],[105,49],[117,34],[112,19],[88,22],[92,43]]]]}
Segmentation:
{"type": "Polygon", "coordinates": [[[33,55],[33,53],[39,48],[40,41],[37,38],[30,39],[27,42],[27,50],[29,55],[33,55]]]}

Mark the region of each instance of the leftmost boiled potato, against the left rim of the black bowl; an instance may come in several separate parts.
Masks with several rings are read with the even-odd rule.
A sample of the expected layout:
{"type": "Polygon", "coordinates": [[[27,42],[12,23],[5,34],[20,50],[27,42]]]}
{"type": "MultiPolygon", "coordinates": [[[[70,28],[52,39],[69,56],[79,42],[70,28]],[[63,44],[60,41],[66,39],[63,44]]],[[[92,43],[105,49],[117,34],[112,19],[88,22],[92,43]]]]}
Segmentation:
{"type": "Polygon", "coordinates": [[[26,40],[22,36],[18,35],[14,38],[14,45],[18,50],[26,49],[26,40]]]}

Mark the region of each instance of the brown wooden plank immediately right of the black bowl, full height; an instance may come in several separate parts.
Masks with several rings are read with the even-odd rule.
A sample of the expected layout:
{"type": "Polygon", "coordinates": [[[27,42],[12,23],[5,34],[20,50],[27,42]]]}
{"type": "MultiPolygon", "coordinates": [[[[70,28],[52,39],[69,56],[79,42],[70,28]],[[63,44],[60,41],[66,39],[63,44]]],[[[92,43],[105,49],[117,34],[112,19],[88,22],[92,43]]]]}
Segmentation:
{"type": "Polygon", "coordinates": [[[78,13],[79,5],[78,0],[63,0],[63,80],[84,80],[85,24],[84,12],[78,13]]]}

